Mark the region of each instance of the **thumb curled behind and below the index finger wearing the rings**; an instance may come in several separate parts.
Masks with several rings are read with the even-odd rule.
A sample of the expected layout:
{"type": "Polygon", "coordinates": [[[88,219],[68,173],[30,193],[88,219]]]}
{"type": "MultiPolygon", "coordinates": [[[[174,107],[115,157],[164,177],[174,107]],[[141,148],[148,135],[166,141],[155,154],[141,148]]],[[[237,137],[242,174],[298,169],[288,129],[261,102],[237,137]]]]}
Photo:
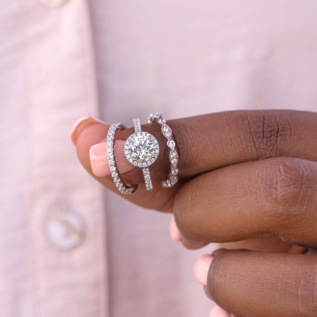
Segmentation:
{"type": "MultiPolygon", "coordinates": [[[[84,168],[94,178],[96,178],[101,184],[106,186],[111,191],[120,194],[111,177],[97,177],[92,172],[89,159],[89,149],[92,145],[104,139],[105,135],[107,135],[109,125],[91,119],[92,118],[87,118],[81,121],[81,124],[84,126],[84,128],[75,128],[75,136],[72,139],[76,145],[77,156],[84,168]]],[[[173,197],[178,186],[179,185],[176,184],[175,187],[167,190],[166,188],[162,188],[160,183],[153,183],[153,190],[146,191],[145,185],[140,185],[138,190],[133,193],[133,195],[120,195],[141,207],[171,212],[173,197]]]]}

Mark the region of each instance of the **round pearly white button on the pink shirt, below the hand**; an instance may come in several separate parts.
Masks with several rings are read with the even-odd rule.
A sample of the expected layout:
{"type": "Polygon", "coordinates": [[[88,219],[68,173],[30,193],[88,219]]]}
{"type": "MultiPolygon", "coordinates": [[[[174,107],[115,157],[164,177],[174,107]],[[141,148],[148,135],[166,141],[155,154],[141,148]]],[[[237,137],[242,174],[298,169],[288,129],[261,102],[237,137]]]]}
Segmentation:
{"type": "Polygon", "coordinates": [[[45,223],[45,233],[57,249],[69,251],[79,247],[86,236],[86,225],[73,210],[52,212],[45,223]]]}

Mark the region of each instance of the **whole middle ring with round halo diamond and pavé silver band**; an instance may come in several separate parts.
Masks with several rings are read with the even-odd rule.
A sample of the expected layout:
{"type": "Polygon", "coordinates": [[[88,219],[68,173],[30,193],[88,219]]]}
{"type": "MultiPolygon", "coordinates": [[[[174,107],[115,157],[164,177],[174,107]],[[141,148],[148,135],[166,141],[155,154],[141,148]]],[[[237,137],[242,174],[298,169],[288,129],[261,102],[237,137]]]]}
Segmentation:
{"type": "Polygon", "coordinates": [[[150,133],[141,130],[140,119],[133,119],[134,131],[124,145],[126,159],[133,165],[142,168],[146,190],[153,189],[149,166],[159,155],[159,142],[150,133]]]}

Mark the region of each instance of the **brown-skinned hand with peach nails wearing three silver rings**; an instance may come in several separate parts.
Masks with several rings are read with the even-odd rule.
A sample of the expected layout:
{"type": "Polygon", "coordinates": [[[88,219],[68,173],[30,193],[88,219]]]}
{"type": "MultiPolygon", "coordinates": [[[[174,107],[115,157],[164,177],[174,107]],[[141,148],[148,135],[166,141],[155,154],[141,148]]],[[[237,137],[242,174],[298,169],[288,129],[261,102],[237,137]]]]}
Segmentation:
{"type": "MultiPolygon", "coordinates": [[[[153,191],[139,186],[122,196],[142,207],[173,211],[188,247],[266,239],[253,249],[267,252],[221,250],[205,261],[208,275],[200,280],[226,311],[243,317],[316,315],[316,256],[287,252],[317,248],[317,114],[234,111],[168,124],[179,152],[179,183],[171,189],[159,183],[168,174],[168,152],[159,125],[151,124],[142,129],[160,143],[161,154],[151,166],[157,184],[153,191]],[[268,245],[271,239],[279,243],[268,245]]],[[[106,137],[108,127],[81,125],[73,133],[78,157],[92,175],[89,149],[106,137]]],[[[132,132],[118,133],[116,158],[125,163],[126,183],[135,184],[144,181],[142,172],[123,162],[121,146],[132,132]]],[[[95,167],[100,177],[94,177],[119,193],[106,176],[107,164],[101,174],[95,167]]]]}

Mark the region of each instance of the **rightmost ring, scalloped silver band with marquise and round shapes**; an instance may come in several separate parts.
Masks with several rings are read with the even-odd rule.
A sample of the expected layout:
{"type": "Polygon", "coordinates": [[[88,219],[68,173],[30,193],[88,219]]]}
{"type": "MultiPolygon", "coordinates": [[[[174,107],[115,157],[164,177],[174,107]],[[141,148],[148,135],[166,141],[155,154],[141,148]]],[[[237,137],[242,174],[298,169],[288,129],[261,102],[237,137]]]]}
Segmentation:
{"type": "Polygon", "coordinates": [[[158,122],[161,125],[162,132],[167,139],[167,146],[170,149],[170,163],[171,163],[171,171],[168,174],[168,178],[162,182],[163,187],[172,187],[178,182],[178,153],[175,150],[175,141],[172,139],[172,129],[170,126],[166,124],[166,120],[162,118],[160,113],[151,113],[147,118],[148,123],[158,122]]]}

